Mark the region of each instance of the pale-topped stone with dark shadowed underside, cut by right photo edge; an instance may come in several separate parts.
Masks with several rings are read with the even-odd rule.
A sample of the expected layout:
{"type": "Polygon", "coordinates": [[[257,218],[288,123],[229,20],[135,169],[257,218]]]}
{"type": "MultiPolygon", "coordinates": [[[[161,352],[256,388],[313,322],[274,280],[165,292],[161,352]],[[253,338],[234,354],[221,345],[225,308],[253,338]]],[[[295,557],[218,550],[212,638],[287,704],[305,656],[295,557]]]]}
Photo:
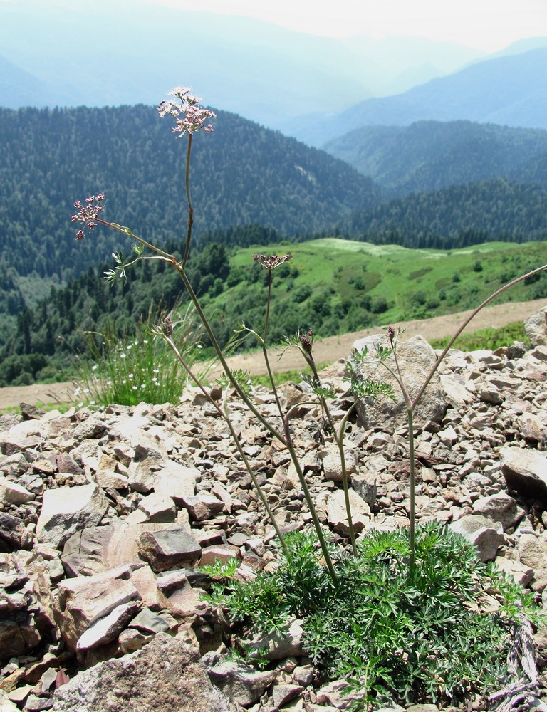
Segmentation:
{"type": "Polygon", "coordinates": [[[509,488],[547,500],[547,453],[516,446],[499,450],[501,472],[509,488]]]}

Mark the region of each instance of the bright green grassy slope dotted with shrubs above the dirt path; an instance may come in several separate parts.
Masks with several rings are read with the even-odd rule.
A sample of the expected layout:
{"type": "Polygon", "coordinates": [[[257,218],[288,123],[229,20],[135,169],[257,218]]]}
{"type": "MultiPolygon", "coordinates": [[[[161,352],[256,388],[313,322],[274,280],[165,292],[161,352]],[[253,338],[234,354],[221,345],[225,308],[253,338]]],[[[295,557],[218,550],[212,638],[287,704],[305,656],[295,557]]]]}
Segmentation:
{"type": "MultiPolygon", "coordinates": [[[[272,338],[298,328],[328,336],[473,308],[507,281],[547,263],[547,242],[438,251],[329,238],[288,249],[293,260],[273,273],[272,338]]],[[[266,271],[253,263],[256,251],[234,253],[230,281],[237,275],[241,281],[206,299],[226,333],[239,318],[259,328],[264,317],[266,271]]],[[[281,253],[278,245],[260,251],[281,253]]],[[[519,284],[504,300],[543,297],[547,276],[519,284]]]]}

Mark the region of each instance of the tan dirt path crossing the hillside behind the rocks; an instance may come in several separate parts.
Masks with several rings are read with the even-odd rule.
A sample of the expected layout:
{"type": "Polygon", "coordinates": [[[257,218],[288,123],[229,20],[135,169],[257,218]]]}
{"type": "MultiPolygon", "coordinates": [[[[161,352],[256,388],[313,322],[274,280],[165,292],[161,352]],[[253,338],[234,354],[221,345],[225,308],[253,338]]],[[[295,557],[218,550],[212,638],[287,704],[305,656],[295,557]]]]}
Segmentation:
{"type": "MultiPolygon", "coordinates": [[[[484,308],[468,326],[467,331],[476,331],[486,327],[505,326],[514,321],[523,321],[538,309],[547,306],[546,299],[530,302],[509,302],[484,308]]],[[[471,311],[457,312],[432,319],[422,319],[394,324],[395,328],[405,329],[405,338],[420,334],[424,339],[449,336],[462,324],[471,311]]],[[[373,327],[342,336],[330,336],[317,340],[313,344],[313,356],[318,364],[332,363],[340,358],[346,358],[351,345],[357,339],[370,334],[382,333],[382,327],[373,327]]],[[[251,375],[262,375],[265,372],[261,352],[252,352],[229,358],[232,368],[247,370],[251,375]]],[[[280,373],[303,367],[301,355],[296,349],[289,349],[281,359],[277,352],[271,354],[273,372],[280,373]]],[[[36,405],[37,403],[78,402],[75,397],[75,386],[71,383],[34,384],[31,386],[14,386],[0,388],[0,412],[6,408],[17,407],[21,402],[36,405]]]]}

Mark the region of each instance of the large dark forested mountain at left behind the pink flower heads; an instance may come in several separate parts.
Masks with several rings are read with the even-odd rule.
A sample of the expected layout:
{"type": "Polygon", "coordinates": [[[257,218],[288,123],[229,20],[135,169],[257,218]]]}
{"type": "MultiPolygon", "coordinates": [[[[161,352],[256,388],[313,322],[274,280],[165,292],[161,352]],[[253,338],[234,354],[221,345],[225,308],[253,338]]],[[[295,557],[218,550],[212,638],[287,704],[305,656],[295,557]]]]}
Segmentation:
{"type": "MultiPolygon", "coordinates": [[[[282,236],[327,231],[379,189],[355,169],[279,132],[218,112],[192,149],[194,235],[261,224],[282,236]]],[[[0,267],[62,282],[110,259],[119,236],[76,245],[72,203],[107,196],[106,219],[150,241],[187,223],[186,144],[155,108],[0,110],[0,267]]]]}

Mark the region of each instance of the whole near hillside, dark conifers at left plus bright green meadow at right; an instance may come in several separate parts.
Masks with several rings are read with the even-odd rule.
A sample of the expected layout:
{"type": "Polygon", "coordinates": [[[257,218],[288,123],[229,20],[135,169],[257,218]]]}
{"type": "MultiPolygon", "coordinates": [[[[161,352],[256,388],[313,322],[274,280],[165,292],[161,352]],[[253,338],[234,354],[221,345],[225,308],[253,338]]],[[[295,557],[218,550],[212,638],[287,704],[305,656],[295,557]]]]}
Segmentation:
{"type": "MultiPolygon", "coordinates": [[[[213,244],[190,257],[188,274],[221,343],[241,322],[261,333],[268,272],[253,254],[287,251],[293,259],[273,272],[271,344],[298,330],[325,337],[473,308],[504,283],[547,263],[547,242],[439,251],[328,238],[231,253],[213,244]]],[[[118,281],[110,288],[102,269],[90,270],[25,309],[13,328],[4,323],[0,385],[54,377],[85,350],[85,332],[110,329],[123,337],[146,320],[151,304],[184,305],[182,282],[165,263],[147,262],[128,277],[127,286],[118,281]]],[[[511,288],[503,301],[539,298],[547,298],[545,274],[511,288]]],[[[242,348],[252,347],[256,342],[248,337],[242,348]]]]}

